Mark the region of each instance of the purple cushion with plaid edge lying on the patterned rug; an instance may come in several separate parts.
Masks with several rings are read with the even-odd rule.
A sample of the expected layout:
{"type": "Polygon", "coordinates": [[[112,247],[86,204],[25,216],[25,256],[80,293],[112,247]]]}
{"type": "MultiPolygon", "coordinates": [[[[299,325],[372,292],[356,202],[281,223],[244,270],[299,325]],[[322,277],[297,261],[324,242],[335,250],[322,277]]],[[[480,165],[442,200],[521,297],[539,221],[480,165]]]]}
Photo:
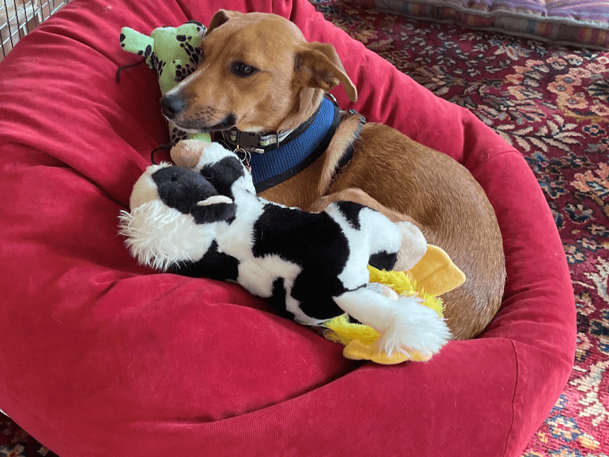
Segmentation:
{"type": "Polygon", "coordinates": [[[609,1],[354,0],[418,19],[595,49],[609,48],[609,1]]]}

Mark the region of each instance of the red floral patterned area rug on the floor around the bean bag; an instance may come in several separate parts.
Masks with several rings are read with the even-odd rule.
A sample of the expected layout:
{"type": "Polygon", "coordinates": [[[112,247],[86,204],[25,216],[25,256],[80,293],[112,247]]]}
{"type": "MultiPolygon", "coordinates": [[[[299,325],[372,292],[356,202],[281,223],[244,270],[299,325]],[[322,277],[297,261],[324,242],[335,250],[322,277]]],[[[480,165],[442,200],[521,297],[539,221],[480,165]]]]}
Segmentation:
{"type": "MultiPolygon", "coordinates": [[[[525,154],[571,266],[578,340],[569,382],[522,457],[609,457],[609,53],[314,4],[525,154]]],[[[0,414],[0,456],[55,454],[0,414]]]]}

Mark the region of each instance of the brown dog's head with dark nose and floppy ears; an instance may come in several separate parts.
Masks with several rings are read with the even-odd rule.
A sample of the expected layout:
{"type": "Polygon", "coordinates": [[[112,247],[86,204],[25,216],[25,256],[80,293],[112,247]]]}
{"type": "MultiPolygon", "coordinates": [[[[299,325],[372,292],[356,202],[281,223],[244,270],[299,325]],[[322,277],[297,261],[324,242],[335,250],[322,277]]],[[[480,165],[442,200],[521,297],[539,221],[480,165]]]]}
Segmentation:
{"type": "Polygon", "coordinates": [[[198,69],[160,99],[163,115],[181,130],[289,130],[340,83],[357,100],[334,47],[307,43],[281,16],[220,10],[201,47],[198,69]]]}

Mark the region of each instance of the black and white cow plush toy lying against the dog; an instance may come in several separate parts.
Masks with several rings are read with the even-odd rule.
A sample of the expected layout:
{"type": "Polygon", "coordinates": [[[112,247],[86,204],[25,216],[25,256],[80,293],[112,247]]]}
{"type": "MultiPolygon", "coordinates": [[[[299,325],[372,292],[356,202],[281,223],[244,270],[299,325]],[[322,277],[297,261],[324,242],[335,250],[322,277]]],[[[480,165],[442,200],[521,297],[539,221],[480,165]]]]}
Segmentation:
{"type": "Polygon", "coordinates": [[[347,313],[381,334],[377,347],[388,356],[408,349],[431,355],[449,340],[444,320],[420,298],[393,300],[369,283],[368,264],[392,270],[412,227],[353,202],[321,213],[269,202],[256,196],[235,154],[200,144],[205,150],[192,169],[153,165],[134,185],[121,233],[140,263],[235,281],[305,325],[347,313]]]}

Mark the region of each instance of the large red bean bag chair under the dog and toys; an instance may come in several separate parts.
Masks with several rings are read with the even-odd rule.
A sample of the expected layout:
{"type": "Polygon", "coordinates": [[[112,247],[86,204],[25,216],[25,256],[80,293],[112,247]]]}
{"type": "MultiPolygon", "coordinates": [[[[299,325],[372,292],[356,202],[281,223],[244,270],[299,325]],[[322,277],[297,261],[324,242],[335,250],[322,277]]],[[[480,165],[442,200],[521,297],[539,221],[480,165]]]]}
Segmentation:
{"type": "Polygon", "coordinates": [[[306,0],[228,0],[333,43],[344,108],[464,163],[503,233],[508,284],[477,339],[427,363],[353,362],[237,285],[158,274],[117,233],[167,143],[156,75],[118,44],[217,10],[200,0],[70,3],[0,64],[0,408],[61,457],[519,456],[571,371],[562,244],[523,156],[396,71],[306,0]]]}

